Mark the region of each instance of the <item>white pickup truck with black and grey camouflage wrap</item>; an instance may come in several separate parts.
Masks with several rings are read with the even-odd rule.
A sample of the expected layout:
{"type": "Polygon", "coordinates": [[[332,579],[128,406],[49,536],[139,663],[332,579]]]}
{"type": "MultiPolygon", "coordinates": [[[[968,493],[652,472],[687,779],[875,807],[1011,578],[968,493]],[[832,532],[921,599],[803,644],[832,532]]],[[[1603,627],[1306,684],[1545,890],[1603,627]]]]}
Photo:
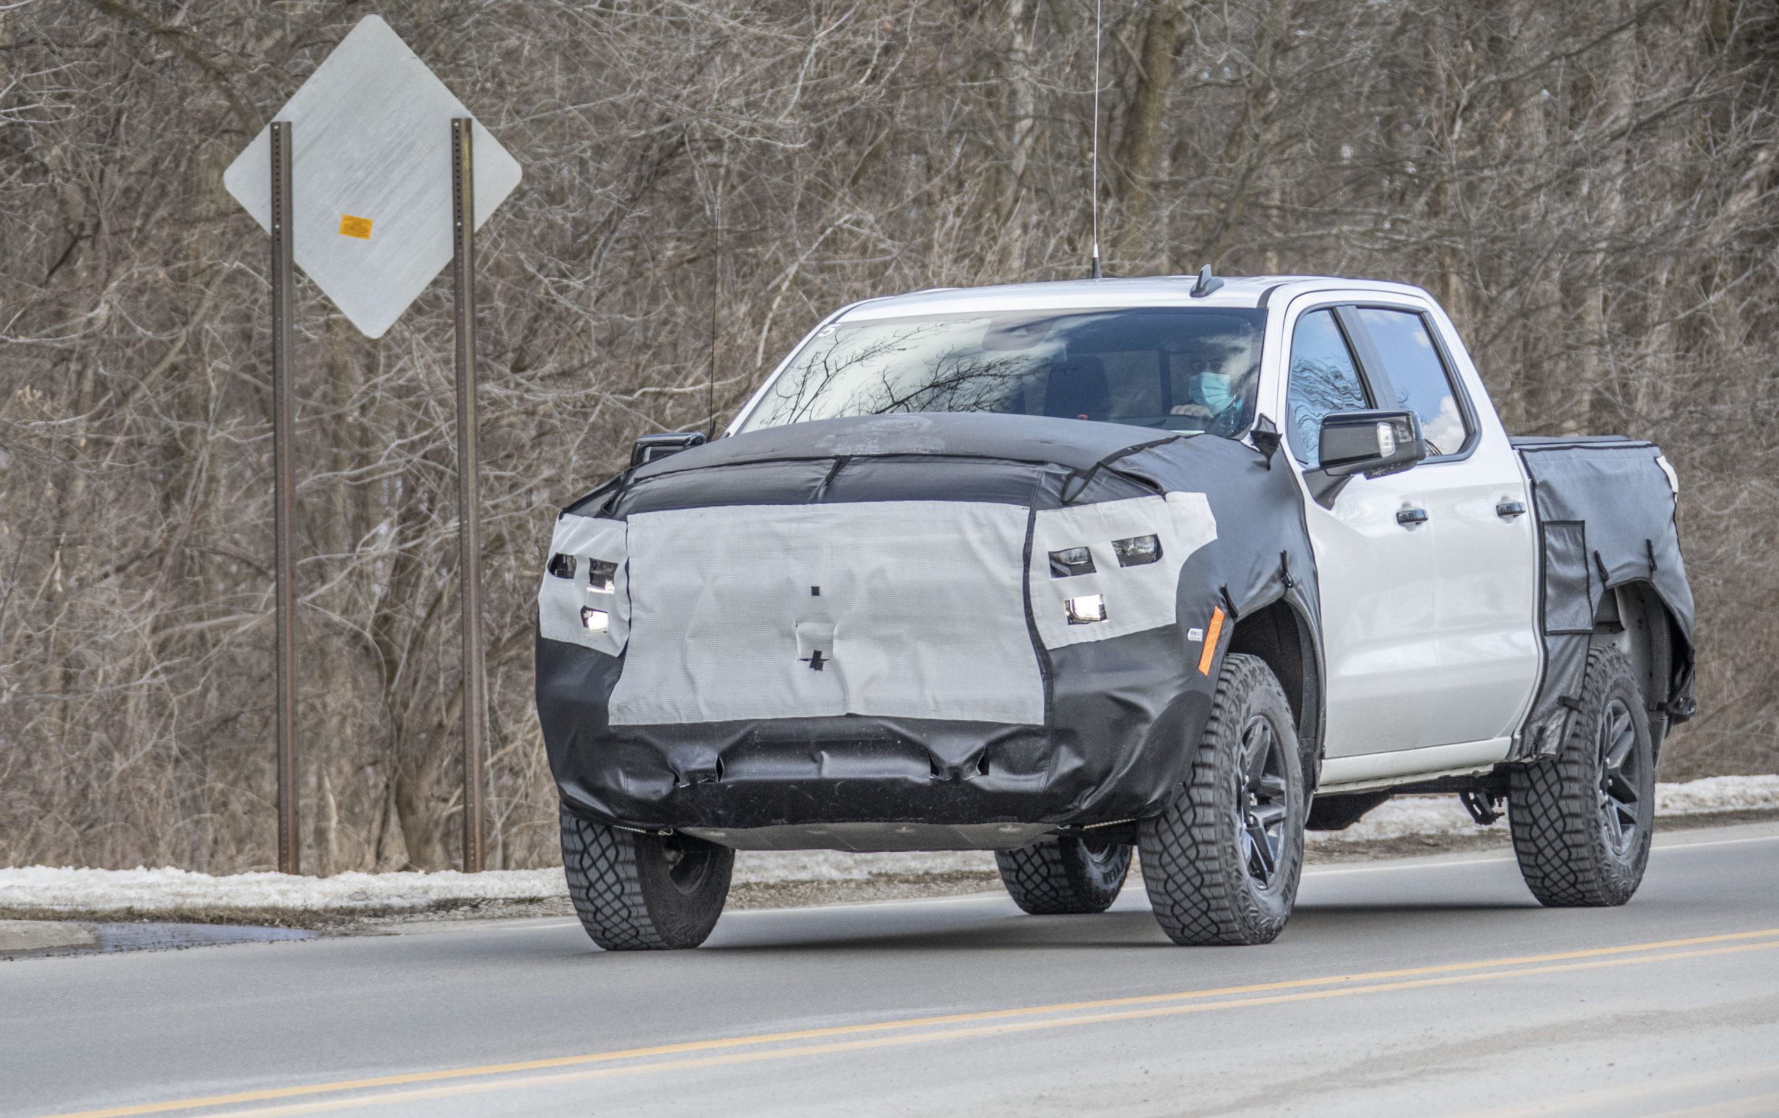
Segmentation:
{"type": "Polygon", "coordinates": [[[1678,482],[1510,439],[1427,291],[1092,279],[847,306],[724,437],[569,505],[537,713],[576,912],[692,947],[737,850],[993,850],[1034,914],[1140,851],[1178,944],[1261,944],[1306,828],[1503,811],[1546,905],[1642,880],[1694,711],[1678,482]]]}

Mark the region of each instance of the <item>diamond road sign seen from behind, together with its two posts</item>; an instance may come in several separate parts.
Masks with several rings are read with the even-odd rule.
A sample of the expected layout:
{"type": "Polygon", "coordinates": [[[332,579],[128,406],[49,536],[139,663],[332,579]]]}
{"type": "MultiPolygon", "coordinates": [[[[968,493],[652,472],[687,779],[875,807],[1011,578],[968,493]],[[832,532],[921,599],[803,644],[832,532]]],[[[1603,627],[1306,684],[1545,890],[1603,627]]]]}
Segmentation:
{"type": "Polygon", "coordinates": [[[274,123],[229,164],[222,183],[272,235],[279,869],[297,871],[299,848],[290,519],[292,263],[366,338],[381,338],[445,265],[452,265],[463,579],[463,862],[464,869],[482,869],[487,695],[475,441],[475,229],[519,185],[519,164],[388,23],[365,16],[278,110],[274,123]],[[299,124],[301,140],[295,139],[299,124]],[[441,158],[447,132],[450,156],[441,158]]]}

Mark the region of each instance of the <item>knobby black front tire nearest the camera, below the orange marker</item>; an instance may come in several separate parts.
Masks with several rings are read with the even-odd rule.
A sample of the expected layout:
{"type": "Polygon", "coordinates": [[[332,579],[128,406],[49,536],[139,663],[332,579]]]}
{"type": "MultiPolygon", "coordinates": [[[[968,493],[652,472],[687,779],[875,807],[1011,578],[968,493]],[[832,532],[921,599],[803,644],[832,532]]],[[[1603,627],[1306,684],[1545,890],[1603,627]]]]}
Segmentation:
{"type": "Polygon", "coordinates": [[[1304,869],[1304,816],[1302,757],[1284,690],[1265,661],[1228,654],[1185,789],[1167,811],[1137,827],[1142,882],[1167,937],[1183,946],[1277,938],[1304,869]],[[1283,784],[1267,802],[1283,814],[1268,814],[1277,819],[1277,850],[1265,880],[1256,880],[1245,848],[1256,816],[1240,768],[1244,736],[1254,732],[1256,720],[1277,743],[1276,750],[1267,747],[1276,759],[1267,771],[1283,784]]]}

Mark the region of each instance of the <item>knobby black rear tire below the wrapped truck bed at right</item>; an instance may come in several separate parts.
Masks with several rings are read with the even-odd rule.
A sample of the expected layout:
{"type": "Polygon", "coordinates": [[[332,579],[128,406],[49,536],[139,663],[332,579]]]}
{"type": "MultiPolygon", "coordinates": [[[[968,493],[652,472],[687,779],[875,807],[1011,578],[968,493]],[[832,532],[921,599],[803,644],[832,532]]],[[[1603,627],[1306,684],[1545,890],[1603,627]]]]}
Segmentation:
{"type": "MultiPolygon", "coordinates": [[[[1621,729],[1621,741],[1622,729],[1621,729]]],[[[1507,818],[1519,873],[1541,905],[1601,908],[1631,899],[1649,864],[1654,832],[1654,750],[1637,674],[1622,652],[1598,647],[1587,654],[1580,706],[1569,713],[1562,745],[1509,773],[1507,818]],[[1614,771],[1603,752],[1630,715],[1628,768],[1614,771]],[[1610,786],[1610,787],[1608,787],[1610,786]],[[1619,807],[1617,791],[1635,795],[1619,807]],[[1606,818],[1619,811],[1619,823],[1606,818]],[[1624,816],[1635,819],[1622,835],[1624,816]],[[1617,830],[1615,830],[1617,828],[1617,830]]]]}

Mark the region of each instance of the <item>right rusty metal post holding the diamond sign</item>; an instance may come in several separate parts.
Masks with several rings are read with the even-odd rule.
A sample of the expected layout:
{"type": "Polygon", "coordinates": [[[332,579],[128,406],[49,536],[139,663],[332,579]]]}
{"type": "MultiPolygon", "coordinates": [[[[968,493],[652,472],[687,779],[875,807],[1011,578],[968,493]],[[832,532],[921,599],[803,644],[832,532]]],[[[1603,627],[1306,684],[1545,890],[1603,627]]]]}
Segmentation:
{"type": "Polygon", "coordinates": [[[482,505],[475,443],[475,151],[468,117],[450,123],[452,286],[457,302],[457,549],[463,590],[463,869],[484,864],[487,693],[482,677],[482,505]]]}

